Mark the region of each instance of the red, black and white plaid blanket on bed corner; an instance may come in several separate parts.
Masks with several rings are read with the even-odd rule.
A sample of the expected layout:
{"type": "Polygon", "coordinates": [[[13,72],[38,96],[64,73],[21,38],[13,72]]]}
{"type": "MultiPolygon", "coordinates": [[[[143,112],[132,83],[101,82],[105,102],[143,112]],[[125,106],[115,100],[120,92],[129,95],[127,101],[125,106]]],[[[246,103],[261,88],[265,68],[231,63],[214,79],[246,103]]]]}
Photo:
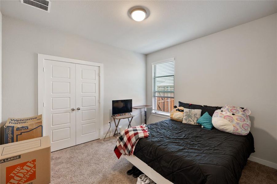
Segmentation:
{"type": "Polygon", "coordinates": [[[117,146],[114,148],[117,158],[119,159],[122,154],[133,155],[137,141],[148,135],[147,125],[144,124],[126,129],[121,136],[117,137],[117,146]]]}

